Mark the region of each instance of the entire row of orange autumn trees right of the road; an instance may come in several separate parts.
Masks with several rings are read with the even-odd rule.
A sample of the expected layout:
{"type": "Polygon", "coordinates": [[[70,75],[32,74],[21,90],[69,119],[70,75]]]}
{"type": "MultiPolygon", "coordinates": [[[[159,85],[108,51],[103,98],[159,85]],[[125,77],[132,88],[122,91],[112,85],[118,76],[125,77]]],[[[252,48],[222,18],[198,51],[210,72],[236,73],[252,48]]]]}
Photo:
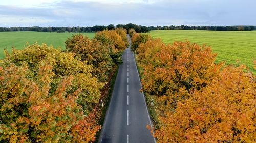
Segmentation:
{"type": "Polygon", "coordinates": [[[157,142],[255,142],[256,80],[246,66],[216,64],[206,45],[129,34],[157,142]]]}

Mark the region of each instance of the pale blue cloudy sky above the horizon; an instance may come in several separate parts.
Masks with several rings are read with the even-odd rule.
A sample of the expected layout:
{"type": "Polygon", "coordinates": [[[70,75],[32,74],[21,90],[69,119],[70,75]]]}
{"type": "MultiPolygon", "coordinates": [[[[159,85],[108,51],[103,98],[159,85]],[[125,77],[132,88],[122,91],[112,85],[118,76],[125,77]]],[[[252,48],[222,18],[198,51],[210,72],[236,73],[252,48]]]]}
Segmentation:
{"type": "Polygon", "coordinates": [[[0,0],[0,26],[256,25],[255,0],[0,0]]]}

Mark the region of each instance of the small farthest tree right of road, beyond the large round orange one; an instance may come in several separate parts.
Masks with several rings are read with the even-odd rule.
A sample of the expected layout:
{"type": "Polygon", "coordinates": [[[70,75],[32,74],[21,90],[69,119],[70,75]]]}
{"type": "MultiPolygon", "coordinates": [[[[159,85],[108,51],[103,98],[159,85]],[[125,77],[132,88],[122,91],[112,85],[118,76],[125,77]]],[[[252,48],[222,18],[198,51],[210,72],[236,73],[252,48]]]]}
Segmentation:
{"type": "Polygon", "coordinates": [[[132,47],[131,50],[137,53],[137,48],[140,44],[146,43],[147,40],[152,39],[152,37],[148,34],[133,34],[133,37],[131,39],[132,41],[132,47]]]}

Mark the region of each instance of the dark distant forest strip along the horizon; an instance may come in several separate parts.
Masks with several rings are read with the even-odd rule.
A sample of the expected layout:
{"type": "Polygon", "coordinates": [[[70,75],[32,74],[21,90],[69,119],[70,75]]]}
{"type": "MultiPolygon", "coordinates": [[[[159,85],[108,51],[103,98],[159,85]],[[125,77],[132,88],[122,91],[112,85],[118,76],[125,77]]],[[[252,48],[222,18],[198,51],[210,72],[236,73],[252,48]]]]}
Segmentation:
{"type": "Polygon", "coordinates": [[[95,25],[93,27],[0,27],[0,32],[6,31],[37,31],[37,32],[97,32],[103,30],[113,30],[115,28],[124,28],[129,31],[131,28],[137,33],[146,33],[151,30],[210,30],[210,31],[253,31],[256,26],[141,26],[136,24],[110,24],[108,26],[95,25]]]}

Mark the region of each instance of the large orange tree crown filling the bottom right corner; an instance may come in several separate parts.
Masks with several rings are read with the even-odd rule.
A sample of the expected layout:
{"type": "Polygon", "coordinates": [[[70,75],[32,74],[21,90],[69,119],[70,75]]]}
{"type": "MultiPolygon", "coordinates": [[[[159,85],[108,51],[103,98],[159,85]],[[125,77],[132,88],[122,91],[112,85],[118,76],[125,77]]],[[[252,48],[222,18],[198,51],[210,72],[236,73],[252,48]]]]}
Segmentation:
{"type": "Polygon", "coordinates": [[[158,142],[255,142],[255,76],[227,67],[175,113],[166,111],[158,142]]]}

